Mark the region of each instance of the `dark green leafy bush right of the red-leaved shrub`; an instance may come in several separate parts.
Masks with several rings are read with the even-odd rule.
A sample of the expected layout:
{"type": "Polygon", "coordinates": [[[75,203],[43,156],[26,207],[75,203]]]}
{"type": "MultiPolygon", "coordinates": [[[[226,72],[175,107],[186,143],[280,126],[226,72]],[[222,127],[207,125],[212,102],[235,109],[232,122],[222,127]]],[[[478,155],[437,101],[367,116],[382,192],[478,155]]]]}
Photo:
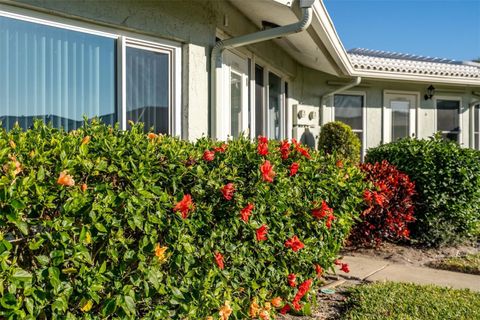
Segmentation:
{"type": "Polygon", "coordinates": [[[432,137],[401,139],[368,150],[366,161],[387,160],[415,182],[411,236],[425,245],[454,244],[480,230],[480,153],[432,137]]]}

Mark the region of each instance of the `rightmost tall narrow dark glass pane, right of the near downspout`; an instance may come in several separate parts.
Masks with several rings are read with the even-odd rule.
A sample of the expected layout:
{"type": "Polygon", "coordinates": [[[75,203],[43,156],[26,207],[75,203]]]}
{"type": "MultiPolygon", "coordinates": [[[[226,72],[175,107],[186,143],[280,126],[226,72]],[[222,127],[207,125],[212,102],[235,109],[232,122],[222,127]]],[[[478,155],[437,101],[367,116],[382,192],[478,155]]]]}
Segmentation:
{"type": "Polygon", "coordinates": [[[282,103],[282,80],[268,73],[268,137],[280,140],[280,104],[282,103]]]}

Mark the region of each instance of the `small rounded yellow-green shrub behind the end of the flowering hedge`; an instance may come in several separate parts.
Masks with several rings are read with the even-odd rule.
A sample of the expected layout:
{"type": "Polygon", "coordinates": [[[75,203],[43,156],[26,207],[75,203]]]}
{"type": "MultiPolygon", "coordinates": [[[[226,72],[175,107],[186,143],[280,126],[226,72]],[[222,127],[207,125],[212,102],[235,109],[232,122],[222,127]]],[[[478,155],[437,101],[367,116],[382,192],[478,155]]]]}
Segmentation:
{"type": "Polygon", "coordinates": [[[326,154],[352,162],[360,161],[360,139],[350,126],[340,121],[329,122],[322,126],[318,138],[318,149],[326,154]]]}

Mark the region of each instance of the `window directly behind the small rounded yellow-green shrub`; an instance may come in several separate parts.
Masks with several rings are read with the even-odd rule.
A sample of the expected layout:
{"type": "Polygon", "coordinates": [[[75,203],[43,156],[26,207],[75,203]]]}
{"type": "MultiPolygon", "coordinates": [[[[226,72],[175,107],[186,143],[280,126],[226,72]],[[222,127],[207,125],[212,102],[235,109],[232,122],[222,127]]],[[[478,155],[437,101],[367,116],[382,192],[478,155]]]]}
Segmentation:
{"type": "Polygon", "coordinates": [[[334,109],[335,121],[349,125],[363,142],[363,96],[336,94],[334,109]]]}

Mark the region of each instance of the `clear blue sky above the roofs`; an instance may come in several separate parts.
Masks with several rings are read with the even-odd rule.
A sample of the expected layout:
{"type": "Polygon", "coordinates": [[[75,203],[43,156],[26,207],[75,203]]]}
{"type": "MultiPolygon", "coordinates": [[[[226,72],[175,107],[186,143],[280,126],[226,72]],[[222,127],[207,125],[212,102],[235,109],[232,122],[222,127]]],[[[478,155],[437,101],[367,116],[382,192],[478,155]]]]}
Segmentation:
{"type": "Polygon", "coordinates": [[[480,58],[480,0],[323,0],[345,49],[480,58]]]}

